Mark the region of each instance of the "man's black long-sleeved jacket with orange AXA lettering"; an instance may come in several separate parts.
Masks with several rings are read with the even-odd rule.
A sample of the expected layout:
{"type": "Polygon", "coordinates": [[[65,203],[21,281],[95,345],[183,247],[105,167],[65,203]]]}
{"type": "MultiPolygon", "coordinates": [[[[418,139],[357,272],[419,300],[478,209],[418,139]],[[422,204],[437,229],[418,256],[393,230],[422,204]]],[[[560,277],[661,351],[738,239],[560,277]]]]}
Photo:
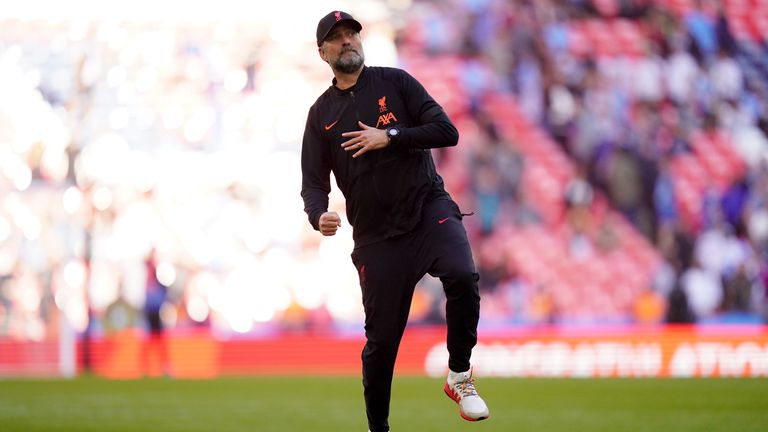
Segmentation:
{"type": "MultiPolygon", "coordinates": [[[[335,81],[334,81],[335,84],[335,81]]],[[[407,72],[364,67],[346,90],[330,86],[309,109],[301,150],[304,210],[317,230],[328,211],[330,173],[344,194],[355,247],[407,233],[421,219],[428,199],[449,198],[429,149],[455,146],[459,134],[442,107],[407,72]],[[357,158],[345,151],[343,132],[357,122],[386,129],[399,138],[357,158]]]]}

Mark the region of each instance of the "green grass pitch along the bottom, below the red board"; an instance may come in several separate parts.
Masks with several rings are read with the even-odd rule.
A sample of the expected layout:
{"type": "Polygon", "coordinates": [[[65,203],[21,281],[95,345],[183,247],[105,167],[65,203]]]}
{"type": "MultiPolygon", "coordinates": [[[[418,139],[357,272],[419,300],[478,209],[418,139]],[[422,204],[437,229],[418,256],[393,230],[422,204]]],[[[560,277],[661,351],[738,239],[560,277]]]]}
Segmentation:
{"type": "MultiPolygon", "coordinates": [[[[462,420],[441,381],[396,377],[394,432],[768,430],[765,379],[496,379],[462,420]]],[[[359,378],[0,380],[0,431],[365,432],[359,378]]]]}

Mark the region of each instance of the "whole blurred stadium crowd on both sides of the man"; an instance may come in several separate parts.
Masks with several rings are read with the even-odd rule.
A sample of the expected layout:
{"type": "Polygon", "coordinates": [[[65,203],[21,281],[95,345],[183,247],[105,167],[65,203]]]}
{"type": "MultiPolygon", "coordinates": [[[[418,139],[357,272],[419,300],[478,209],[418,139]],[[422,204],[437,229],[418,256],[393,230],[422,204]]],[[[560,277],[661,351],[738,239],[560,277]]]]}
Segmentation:
{"type": "MultiPolygon", "coordinates": [[[[552,223],[522,180],[525,143],[508,142],[484,108],[509,94],[575,167],[558,223],[578,228],[604,198],[658,251],[637,299],[644,321],[764,320],[768,68],[753,66],[768,64],[768,41],[735,35],[717,1],[450,3],[361,19],[368,64],[395,48],[460,59],[466,106],[446,107],[478,132],[462,130],[467,187],[449,192],[477,212],[475,248],[504,227],[552,223]],[[575,43],[583,23],[618,19],[640,29],[640,51],[575,43]],[[697,137],[724,137],[740,164],[691,209],[675,169],[697,137]]],[[[298,195],[305,112],[330,74],[311,32],[277,27],[0,21],[0,337],[140,328],[148,305],[166,328],[222,337],[359,327],[349,226],[321,238],[298,195]]],[[[578,251],[608,237],[569,241],[578,251]]],[[[484,301],[493,319],[557,321],[513,266],[478,266],[488,298],[520,311],[505,319],[484,301]]],[[[442,320],[440,290],[420,283],[413,322],[442,320]]]]}

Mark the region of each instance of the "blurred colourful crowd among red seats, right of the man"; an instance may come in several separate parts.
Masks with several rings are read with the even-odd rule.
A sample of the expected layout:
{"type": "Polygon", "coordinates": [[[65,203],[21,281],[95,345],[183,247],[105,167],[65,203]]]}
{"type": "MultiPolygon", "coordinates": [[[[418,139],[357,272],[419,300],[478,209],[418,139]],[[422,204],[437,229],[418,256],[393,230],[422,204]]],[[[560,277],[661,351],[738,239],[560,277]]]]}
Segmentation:
{"type": "MultiPolygon", "coordinates": [[[[573,166],[562,224],[578,234],[604,198],[658,251],[628,322],[763,322],[768,40],[734,21],[764,19],[768,5],[747,3],[424,2],[425,50],[461,59],[482,132],[467,157],[476,242],[505,225],[541,223],[521,188],[520,150],[530,143],[505,142],[494,124],[502,119],[484,109],[489,94],[509,92],[573,166]]],[[[567,241],[578,254],[610,241],[604,234],[567,241]]],[[[490,261],[480,262],[486,290],[525,282],[514,265],[490,261]]],[[[536,295],[525,302],[523,321],[536,321],[536,295]]]]}

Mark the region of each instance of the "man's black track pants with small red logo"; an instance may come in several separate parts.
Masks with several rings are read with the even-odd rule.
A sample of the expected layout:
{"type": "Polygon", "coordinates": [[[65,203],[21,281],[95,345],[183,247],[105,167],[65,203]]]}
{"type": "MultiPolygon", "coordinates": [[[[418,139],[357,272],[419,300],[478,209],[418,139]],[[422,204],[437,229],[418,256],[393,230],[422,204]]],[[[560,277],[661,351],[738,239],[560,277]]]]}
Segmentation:
{"type": "Polygon", "coordinates": [[[424,205],[422,215],[414,231],[352,253],[365,309],[363,387],[371,432],[389,430],[395,358],[414,288],[425,274],[443,283],[449,368],[468,370],[477,343],[479,276],[459,208],[453,201],[435,200],[424,205]]]}

